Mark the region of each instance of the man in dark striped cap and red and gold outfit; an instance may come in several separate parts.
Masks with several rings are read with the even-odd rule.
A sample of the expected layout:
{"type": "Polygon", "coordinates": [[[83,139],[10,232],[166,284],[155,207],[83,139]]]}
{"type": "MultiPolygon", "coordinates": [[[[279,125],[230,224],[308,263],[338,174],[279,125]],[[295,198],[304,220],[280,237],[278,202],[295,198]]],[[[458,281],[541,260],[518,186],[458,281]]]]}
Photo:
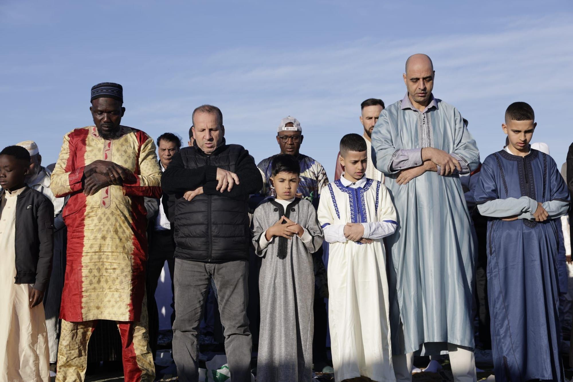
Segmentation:
{"type": "Polygon", "coordinates": [[[123,88],[92,87],[95,126],[76,128],[52,173],[52,192],[70,195],[66,274],[56,380],[83,381],[88,341],[97,320],[117,321],[125,381],[153,381],[147,311],[142,311],[147,260],[143,197],[161,196],[153,139],[122,126],[123,88]]]}

